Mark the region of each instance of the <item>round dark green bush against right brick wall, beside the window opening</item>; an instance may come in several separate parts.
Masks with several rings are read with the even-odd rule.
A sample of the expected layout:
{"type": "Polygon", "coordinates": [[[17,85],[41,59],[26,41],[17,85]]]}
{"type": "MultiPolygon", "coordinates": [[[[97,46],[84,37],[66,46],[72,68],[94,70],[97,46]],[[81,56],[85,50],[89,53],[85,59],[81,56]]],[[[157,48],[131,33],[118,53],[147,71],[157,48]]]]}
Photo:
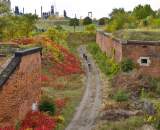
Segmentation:
{"type": "Polygon", "coordinates": [[[129,72],[129,71],[133,70],[133,68],[134,68],[134,63],[132,62],[131,59],[124,59],[121,62],[121,70],[123,72],[129,72]]]}

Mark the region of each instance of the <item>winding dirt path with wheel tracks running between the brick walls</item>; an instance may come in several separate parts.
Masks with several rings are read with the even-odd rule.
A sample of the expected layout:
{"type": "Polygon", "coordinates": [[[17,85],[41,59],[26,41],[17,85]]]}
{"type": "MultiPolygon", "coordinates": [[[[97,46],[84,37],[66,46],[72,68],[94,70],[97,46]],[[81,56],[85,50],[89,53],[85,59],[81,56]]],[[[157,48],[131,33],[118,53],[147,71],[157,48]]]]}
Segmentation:
{"type": "Polygon", "coordinates": [[[66,130],[91,130],[95,125],[101,106],[101,84],[98,69],[85,46],[80,46],[78,51],[86,68],[86,90],[73,120],[66,130]]]}

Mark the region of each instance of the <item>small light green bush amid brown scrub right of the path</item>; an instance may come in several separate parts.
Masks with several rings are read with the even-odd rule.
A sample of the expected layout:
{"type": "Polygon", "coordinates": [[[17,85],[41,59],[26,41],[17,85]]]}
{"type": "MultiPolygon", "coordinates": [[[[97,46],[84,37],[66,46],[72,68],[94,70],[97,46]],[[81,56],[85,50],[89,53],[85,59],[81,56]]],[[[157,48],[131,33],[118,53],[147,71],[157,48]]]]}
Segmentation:
{"type": "Polygon", "coordinates": [[[127,101],[128,98],[129,95],[123,90],[118,90],[113,96],[113,99],[115,99],[117,102],[127,101]]]}

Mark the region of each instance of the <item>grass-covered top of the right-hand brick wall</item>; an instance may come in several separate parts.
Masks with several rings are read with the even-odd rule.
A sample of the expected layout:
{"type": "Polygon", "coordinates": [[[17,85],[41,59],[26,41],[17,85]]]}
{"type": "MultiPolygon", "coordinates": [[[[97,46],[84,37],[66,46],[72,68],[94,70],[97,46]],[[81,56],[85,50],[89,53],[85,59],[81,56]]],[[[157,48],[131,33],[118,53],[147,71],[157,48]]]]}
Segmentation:
{"type": "Polygon", "coordinates": [[[159,41],[160,30],[142,30],[142,29],[129,29],[120,30],[113,33],[113,37],[123,40],[144,40],[144,41],[159,41]]]}

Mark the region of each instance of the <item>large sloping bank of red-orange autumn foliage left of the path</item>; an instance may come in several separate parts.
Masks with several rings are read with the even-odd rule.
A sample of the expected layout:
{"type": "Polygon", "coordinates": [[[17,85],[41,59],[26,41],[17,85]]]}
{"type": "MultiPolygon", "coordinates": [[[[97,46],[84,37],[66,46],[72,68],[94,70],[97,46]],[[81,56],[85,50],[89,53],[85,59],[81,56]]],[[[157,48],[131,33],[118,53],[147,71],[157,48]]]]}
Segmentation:
{"type": "Polygon", "coordinates": [[[82,69],[80,66],[80,61],[77,57],[68,51],[68,49],[64,48],[63,46],[54,43],[51,39],[47,37],[33,37],[33,38],[24,38],[24,39],[16,39],[13,40],[18,44],[34,44],[34,43],[41,43],[44,47],[47,45],[53,46],[60,51],[63,55],[63,60],[57,61],[54,55],[48,51],[47,53],[43,54],[42,64],[46,66],[48,63],[52,63],[53,65],[50,66],[49,72],[52,72],[54,76],[65,76],[70,74],[77,74],[82,73],[82,69]]]}

